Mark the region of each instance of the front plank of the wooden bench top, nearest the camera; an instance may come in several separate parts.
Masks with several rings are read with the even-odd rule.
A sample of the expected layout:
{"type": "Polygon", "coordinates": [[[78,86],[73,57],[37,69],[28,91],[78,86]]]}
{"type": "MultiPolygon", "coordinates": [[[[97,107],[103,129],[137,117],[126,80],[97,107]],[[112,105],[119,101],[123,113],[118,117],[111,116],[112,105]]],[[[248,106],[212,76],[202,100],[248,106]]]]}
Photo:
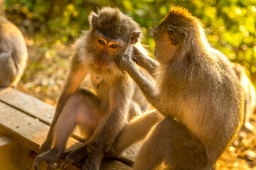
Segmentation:
{"type": "MultiPolygon", "coordinates": [[[[0,131],[8,134],[23,146],[32,149],[35,152],[39,151],[40,145],[46,139],[49,126],[42,123],[29,115],[22,113],[5,103],[0,102],[0,131]]],[[[70,137],[68,140],[68,149],[73,149],[82,145],[82,142],[70,137]]],[[[102,169],[131,169],[129,166],[122,164],[116,160],[105,162],[102,164],[102,169]]],[[[75,166],[70,166],[69,169],[78,169],[75,166]]]]}

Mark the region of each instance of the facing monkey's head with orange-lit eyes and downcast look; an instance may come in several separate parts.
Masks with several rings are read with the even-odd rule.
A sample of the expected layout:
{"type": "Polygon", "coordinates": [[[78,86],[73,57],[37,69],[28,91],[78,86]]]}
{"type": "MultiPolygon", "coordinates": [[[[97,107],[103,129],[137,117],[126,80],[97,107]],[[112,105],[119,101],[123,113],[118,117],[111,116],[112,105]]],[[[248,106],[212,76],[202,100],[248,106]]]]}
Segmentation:
{"type": "Polygon", "coordinates": [[[132,54],[132,44],[139,40],[139,24],[125,16],[117,8],[105,7],[97,14],[92,12],[90,20],[90,44],[88,52],[93,54],[92,66],[97,72],[116,72],[115,57],[125,52],[132,54]]]}

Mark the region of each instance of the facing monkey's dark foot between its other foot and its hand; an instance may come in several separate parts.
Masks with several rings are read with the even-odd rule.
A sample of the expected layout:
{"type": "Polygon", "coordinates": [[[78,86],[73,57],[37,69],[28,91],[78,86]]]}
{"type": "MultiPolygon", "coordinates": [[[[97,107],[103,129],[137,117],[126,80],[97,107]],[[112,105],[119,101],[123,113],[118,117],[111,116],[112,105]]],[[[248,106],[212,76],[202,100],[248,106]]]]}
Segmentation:
{"type": "Polygon", "coordinates": [[[70,152],[63,153],[60,158],[64,159],[60,165],[60,168],[67,169],[70,164],[80,162],[80,160],[88,157],[87,145],[82,145],[70,152]]]}

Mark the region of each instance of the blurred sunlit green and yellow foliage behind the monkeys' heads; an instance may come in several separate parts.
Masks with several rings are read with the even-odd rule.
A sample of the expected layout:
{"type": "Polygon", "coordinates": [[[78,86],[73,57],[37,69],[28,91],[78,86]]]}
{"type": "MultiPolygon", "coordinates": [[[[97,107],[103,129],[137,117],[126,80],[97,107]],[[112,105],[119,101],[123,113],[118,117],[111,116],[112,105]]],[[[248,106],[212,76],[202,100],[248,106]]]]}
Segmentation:
{"type": "MultiPolygon", "coordinates": [[[[118,7],[142,26],[143,43],[154,51],[150,28],[169,11],[169,6],[188,8],[201,19],[211,44],[233,62],[245,65],[256,75],[255,0],[6,0],[6,11],[20,13],[37,21],[38,35],[49,36],[51,43],[73,41],[88,28],[87,16],[102,6],[118,7]]],[[[249,72],[248,72],[249,73],[249,72]]]]}

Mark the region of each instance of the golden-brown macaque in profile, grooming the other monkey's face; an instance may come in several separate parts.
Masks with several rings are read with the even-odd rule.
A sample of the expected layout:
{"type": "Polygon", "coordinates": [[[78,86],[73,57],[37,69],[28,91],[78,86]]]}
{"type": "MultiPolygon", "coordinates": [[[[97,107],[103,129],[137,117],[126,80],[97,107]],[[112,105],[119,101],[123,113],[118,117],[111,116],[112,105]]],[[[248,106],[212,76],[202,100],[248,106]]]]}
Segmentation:
{"type": "MultiPolygon", "coordinates": [[[[117,58],[165,117],[147,135],[134,169],[215,169],[242,125],[244,94],[238,77],[227,57],[210,47],[201,21],[184,8],[172,6],[152,35],[159,63],[134,53],[142,67],[154,72],[155,83],[139,72],[131,57],[117,58]]],[[[145,115],[141,117],[117,139],[117,153],[126,146],[122,142],[139,137],[139,128],[147,125],[145,115]]]]}

